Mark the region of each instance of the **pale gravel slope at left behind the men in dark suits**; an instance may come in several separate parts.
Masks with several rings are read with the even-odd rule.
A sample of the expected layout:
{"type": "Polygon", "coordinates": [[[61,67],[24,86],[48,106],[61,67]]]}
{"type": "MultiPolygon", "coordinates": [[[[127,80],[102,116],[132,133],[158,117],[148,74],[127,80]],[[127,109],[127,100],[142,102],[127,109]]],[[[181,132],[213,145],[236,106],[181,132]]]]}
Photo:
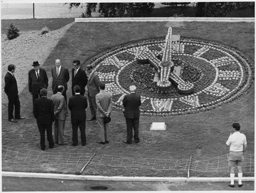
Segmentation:
{"type": "Polygon", "coordinates": [[[8,105],[8,98],[3,91],[8,65],[16,65],[15,77],[18,90],[21,92],[28,84],[28,73],[32,69],[33,61],[38,61],[42,65],[72,24],[44,35],[41,35],[40,30],[26,33],[21,31],[19,37],[13,40],[8,40],[6,34],[2,34],[2,109],[8,105]]]}

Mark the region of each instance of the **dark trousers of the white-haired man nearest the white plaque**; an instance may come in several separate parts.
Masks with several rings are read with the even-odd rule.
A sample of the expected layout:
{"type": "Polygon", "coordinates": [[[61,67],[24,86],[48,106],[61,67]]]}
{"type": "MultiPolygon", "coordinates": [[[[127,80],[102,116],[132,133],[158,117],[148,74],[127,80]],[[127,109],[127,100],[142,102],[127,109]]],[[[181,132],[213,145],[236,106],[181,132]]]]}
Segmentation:
{"type": "Polygon", "coordinates": [[[138,138],[138,125],[140,122],[139,118],[134,118],[134,119],[128,119],[125,118],[126,120],[126,127],[127,127],[127,142],[131,143],[131,139],[133,138],[133,130],[134,130],[134,141],[139,142],[140,139],[138,138]]]}

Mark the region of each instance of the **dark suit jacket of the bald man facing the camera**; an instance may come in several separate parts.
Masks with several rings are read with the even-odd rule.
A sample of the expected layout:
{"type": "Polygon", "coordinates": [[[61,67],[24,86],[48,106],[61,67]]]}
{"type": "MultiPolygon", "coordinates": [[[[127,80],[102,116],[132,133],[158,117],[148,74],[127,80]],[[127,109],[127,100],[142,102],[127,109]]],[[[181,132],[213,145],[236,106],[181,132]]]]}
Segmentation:
{"type": "Polygon", "coordinates": [[[59,76],[57,76],[56,66],[52,68],[52,90],[56,91],[59,85],[63,85],[67,90],[67,82],[69,81],[69,70],[61,66],[59,76]]]}

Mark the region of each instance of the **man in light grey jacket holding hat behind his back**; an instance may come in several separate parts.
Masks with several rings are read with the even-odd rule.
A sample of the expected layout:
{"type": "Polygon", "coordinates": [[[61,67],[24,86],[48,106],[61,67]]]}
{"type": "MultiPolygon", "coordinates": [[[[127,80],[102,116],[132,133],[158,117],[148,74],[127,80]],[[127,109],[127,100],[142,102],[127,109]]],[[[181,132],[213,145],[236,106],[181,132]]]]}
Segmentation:
{"type": "Polygon", "coordinates": [[[112,96],[105,91],[105,84],[99,85],[99,93],[95,96],[97,103],[97,121],[99,124],[99,138],[98,144],[109,143],[108,123],[104,123],[104,117],[110,116],[112,110],[112,96]]]}

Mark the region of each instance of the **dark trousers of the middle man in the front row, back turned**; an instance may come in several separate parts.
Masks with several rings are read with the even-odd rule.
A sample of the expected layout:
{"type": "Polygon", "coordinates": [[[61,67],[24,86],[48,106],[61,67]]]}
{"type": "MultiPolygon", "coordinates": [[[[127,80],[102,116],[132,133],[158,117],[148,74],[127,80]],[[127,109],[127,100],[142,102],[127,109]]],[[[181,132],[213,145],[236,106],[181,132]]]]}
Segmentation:
{"type": "Polygon", "coordinates": [[[71,120],[71,124],[72,124],[72,130],[73,130],[73,133],[72,133],[73,145],[78,144],[78,136],[77,136],[78,127],[79,127],[80,133],[81,133],[82,145],[86,145],[86,121],[85,120],[71,120]]]}

